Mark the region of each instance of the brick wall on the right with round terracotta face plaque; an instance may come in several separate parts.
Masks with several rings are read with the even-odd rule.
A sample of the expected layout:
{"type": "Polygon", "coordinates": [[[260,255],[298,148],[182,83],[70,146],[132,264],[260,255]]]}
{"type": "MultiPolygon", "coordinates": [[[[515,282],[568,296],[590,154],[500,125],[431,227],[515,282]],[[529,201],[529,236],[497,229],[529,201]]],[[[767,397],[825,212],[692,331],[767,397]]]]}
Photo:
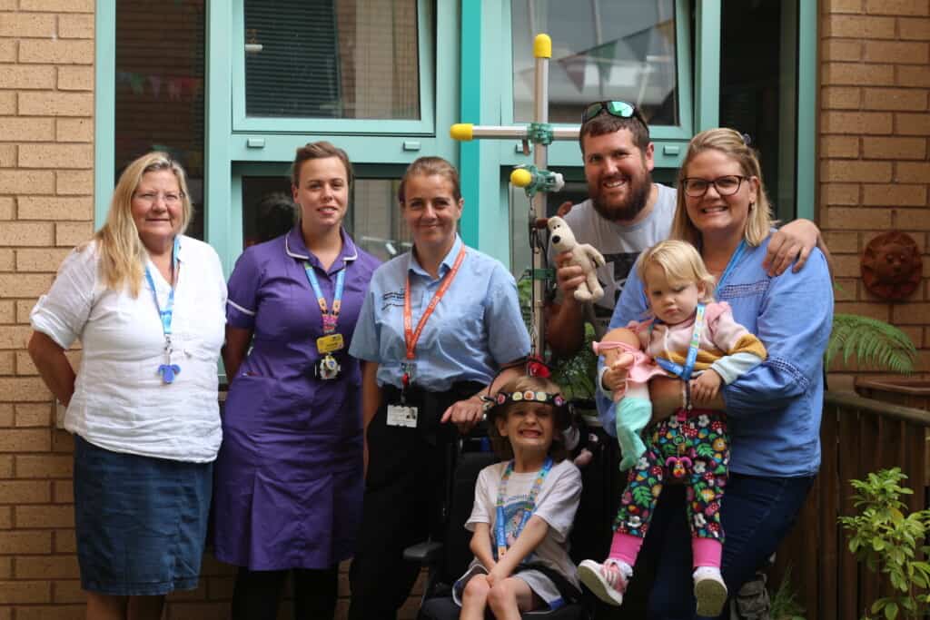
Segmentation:
{"type": "MultiPolygon", "coordinates": [[[[833,252],[836,310],[895,323],[930,372],[930,1],[820,3],[819,223],[833,252]],[[883,231],[910,234],[923,282],[886,303],[861,282],[859,257],[883,231]]],[[[855,368],[834,364],[830,387],[849,388],[855,368]]]]}

